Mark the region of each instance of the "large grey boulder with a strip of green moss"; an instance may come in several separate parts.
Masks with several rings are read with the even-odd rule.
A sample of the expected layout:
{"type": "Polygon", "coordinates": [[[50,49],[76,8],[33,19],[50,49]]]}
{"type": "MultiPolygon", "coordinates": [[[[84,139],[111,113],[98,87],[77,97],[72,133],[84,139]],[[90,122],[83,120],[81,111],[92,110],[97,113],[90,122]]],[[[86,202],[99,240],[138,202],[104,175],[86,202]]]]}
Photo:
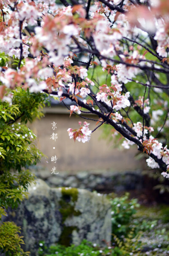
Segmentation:
{"type": "Polygon", "coordinates": [[[43,180],[28,188],[29,199],[8,220],[22,227],[25,250],[36,255],[38,244],[78,245],[87,239],[98,245],[111,240],[111,206],[100,194],[77,188],[49,188],[43,180]]]}

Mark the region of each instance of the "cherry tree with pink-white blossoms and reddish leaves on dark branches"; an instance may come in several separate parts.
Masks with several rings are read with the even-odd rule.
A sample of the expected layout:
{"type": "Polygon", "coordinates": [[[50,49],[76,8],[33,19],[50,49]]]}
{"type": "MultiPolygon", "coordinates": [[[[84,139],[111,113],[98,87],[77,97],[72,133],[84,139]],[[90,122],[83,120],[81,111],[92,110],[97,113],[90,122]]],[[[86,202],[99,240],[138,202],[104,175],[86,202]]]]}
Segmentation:
{"type": "MultiPolygon", "coordinates": [[[[95,114],[169,177],[168,1],[0,0],[0,9],[2,101],[18,87],[69,98],[70,115],[95,114]]],[[[82,142],[92,132],[87,122],[68,129],[82,142]]]]}

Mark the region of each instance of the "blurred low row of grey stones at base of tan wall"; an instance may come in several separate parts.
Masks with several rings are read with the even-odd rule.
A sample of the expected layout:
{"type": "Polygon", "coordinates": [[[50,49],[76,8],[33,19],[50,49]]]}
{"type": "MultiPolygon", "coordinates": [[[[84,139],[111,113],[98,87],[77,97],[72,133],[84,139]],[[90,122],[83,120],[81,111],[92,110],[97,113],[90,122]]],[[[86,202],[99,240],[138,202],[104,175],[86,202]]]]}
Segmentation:
{"type": "Polygon", "coordinates": [[[85,188],[98,192],[119,192],[126,190],[139,190],[143,188],[143,177],[141,171],[135,172],[78,172],[77,174],[62,173],[53,175],[48,170],[35,172],[38,178],[43,179],[50,187],[75,187],[85,188]]]}

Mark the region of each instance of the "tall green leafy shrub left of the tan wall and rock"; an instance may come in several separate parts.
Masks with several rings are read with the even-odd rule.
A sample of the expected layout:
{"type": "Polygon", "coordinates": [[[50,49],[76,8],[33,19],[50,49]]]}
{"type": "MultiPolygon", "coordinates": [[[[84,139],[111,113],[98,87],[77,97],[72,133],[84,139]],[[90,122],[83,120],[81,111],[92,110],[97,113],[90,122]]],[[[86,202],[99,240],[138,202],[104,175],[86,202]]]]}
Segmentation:
{"type": "Polygon", "coordinates": [[[26,123],[43,116],[41,109],[47,95],[22,88],[11,93],[12,103],[0,100],[0,255],[27,256],[21,248],[24,242],[20,228],[14,222],[2,223],[2,217],[5,209],[16,208],[27,198],[27,187],[35,180],[27,168],[36,165],[43,154],[36,148],[36,136],[26,123]]]}

